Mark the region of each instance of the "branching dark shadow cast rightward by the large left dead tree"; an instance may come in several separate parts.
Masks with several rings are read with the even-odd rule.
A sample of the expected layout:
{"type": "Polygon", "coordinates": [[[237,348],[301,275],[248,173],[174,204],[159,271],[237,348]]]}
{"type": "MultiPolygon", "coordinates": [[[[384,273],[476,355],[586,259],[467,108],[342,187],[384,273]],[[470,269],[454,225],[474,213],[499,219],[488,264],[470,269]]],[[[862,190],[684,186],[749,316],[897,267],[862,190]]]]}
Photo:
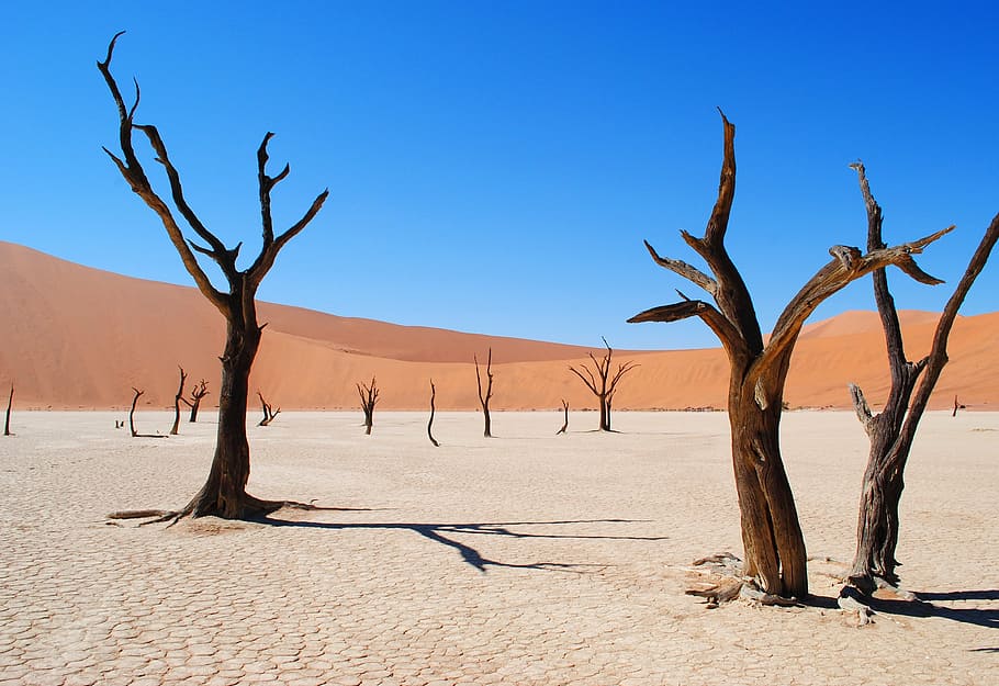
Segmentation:
{"type": "MultiPolygon", "coordinates": [[[[335,509],[335,508],[324,508],[335,509]]],[[[500,562],[484,556],[479,550],[463,543],[454,535],[478,535],[478,536],[501,536],[516,539],[600,539],[600,540],[626,540],[626,541],[661,541],[665,536],[600,536],[600,535],[580,535],[580,533],[525,533],[514,531],[510,527],[516,526],[564,526],[573,524],[633,524],[648,521],[646,519],[571,519],[559,521],[504,521],[504,522],[475,522],[475,524],[415,524],[415,522],[326,522],[326,521],[294,521],[288,519],[276,519],[272,517],[262,517],[256,521],[273,527],[300,527],[305,529],[327,529],[330,531],[361,530],[373,529],[379,531],[413,531],[424,538],[447,546],[458,551],[461,559],[467,564],[475,567],[483,574],[487,567],[507,567],[523,570],[547,570],[547,571],[574,571],[581,567],[606,566],[596,564],[564,564],[558,562],[535,562],[531,564],[514,564],[500,562]]]]}

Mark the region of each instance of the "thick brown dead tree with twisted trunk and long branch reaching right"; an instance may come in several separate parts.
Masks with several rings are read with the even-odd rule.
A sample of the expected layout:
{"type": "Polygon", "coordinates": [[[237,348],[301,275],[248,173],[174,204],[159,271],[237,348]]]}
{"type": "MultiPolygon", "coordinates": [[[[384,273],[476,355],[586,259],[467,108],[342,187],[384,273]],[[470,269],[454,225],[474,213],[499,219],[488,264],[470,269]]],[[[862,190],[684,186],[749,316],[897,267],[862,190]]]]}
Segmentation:
{"type": "Polygon", "coordinates": [[[805,540],[795,501],[781,459],[779,425],[784,384],[801,326],[818,305],[851,281],[895,265],[923,283],[939,283],[912,259],[930,243],[951,230],[920,240],[868,251],[834,246],[832,260],[805,284],[777,318],[766,345],[749,290],[725,247],[729,213],[736,192],[736,127],[721,115],[725,155],[718,199],[703,238],[681,232],[684,241],[707,262],[712,277],[686,262],[660,257],[649,243],[656,265],[707,291],[710,304],[680,293],[682,302],[647,310],[629,322],[676,322],[699,317],[718,336],[728,356],[728,413],[732,462],[742,542],[744,575],[771,597],[804,597],[808,593],[805,540]]]}

